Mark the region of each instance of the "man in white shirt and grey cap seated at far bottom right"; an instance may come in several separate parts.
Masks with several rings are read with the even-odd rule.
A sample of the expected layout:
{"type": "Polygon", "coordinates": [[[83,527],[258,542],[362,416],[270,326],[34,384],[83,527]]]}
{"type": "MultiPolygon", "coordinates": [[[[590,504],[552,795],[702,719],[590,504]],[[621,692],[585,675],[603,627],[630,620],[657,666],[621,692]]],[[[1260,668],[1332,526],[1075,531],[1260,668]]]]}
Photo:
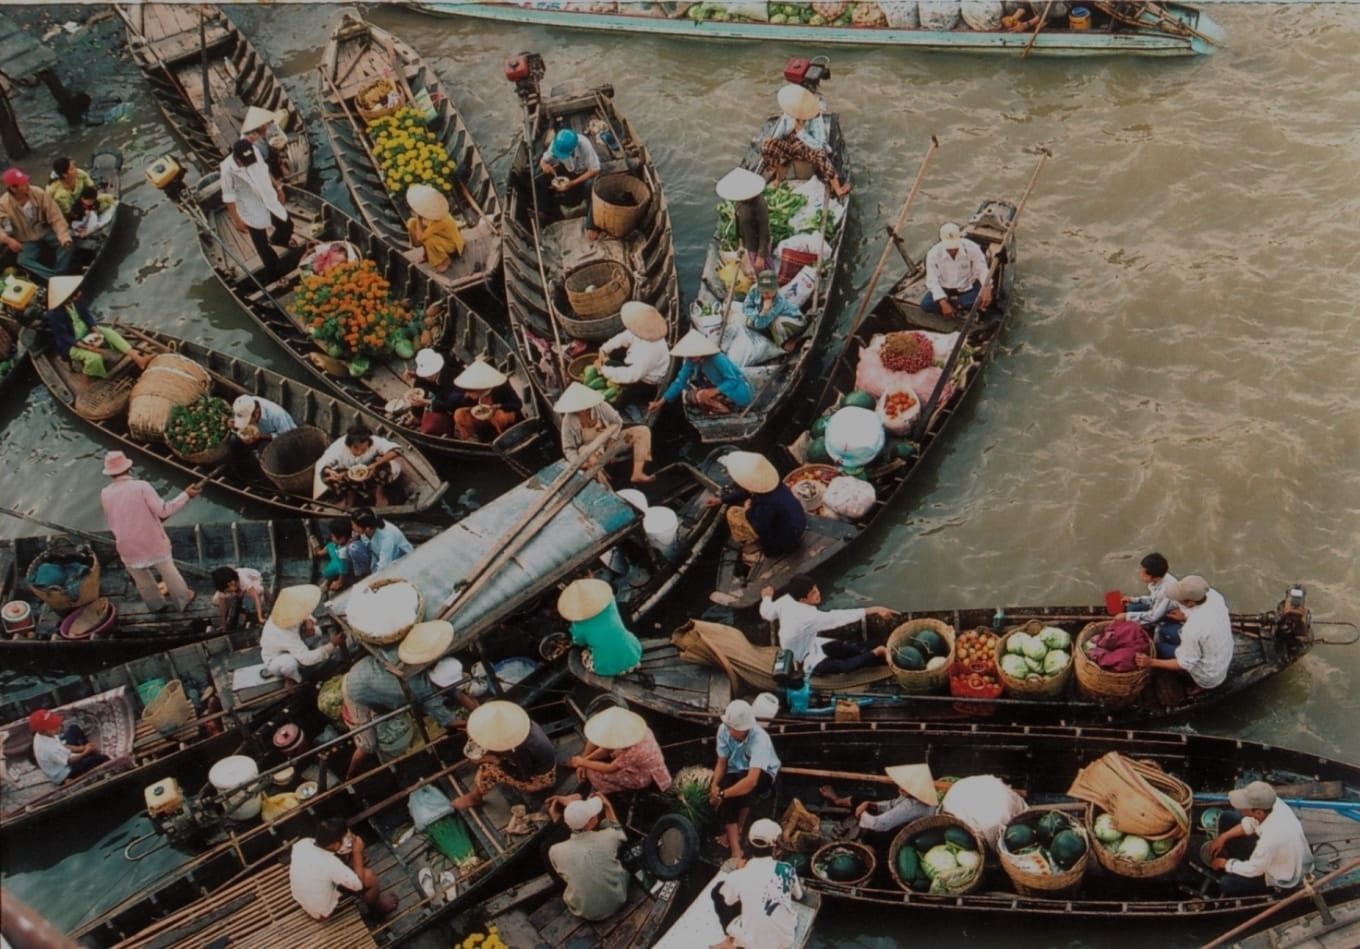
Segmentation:
{"type": "Polygon", "coordinates": [[[1223,872],[1219,886],[1227,897],[1255,896],[1268,889],[1295,889],[1312,873],[1312,848],[1289,809],[1270,784],[1254,780],[1228,791],[1235,810],[1219,817],[1219,836],[1209,844],[1210,866],[1223,872]],[[1248,838],[1255,838],[1255,846],[1248,838]]]}

